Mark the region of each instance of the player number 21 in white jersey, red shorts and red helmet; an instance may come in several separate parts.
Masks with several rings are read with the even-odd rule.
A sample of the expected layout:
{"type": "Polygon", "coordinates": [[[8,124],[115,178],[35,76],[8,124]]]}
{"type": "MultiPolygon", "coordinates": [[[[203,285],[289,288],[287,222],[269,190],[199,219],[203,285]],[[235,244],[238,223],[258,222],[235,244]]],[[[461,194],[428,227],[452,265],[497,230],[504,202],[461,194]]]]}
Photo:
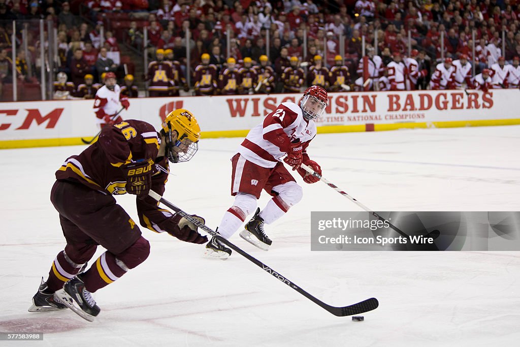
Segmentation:
{"type": "MultiPolygon", "coordinates": [[[[239,229],[246,217],[253,213],[262,190],[273,198],[245,224],[240,237],[254,246],[268,250],[272,241],[264,232],[264,223],[271,224],[283,216],[303,196],[302,187],[282,163],[303,177],[306,183],[319,179],[300,168],[302,163],[321,174],[320,165],[307,154],[310,141],[316,136],[314,119],[320,117],[327,107],[327,92],[319,86],[306,89],[300,105],[282,102],[269,113],[262,123],[249,132],[231,159],[231,195],[235,202],[224,214],[217,228],[218,233],[229,239],[239,229]]],[[[216,238],[206,245],[206,258],[227,259],[231,250],[216,238]]]]}

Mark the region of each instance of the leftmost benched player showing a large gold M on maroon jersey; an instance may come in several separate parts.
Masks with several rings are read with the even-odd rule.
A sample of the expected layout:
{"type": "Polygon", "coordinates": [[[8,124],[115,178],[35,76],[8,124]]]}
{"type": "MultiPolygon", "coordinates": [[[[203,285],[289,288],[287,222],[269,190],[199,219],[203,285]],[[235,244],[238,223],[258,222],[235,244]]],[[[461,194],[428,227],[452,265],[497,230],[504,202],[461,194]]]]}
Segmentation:
{"type": "Polygon", "coordinates": [[[164,60],[164,49],[158,49],[155,56],[157,60],[148,65],[148,92],[152,97],[168,96],[174,81],[172,64],[164,60]]]}

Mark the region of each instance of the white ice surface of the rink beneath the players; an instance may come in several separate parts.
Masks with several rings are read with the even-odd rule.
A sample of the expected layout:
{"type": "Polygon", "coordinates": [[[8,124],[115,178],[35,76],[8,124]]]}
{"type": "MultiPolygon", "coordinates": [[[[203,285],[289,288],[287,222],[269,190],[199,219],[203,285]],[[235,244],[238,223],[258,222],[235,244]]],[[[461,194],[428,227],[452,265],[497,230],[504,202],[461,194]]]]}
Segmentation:
{"type": "MultiPolygon", "coordinates": [[[[520,211],[520,126],[321,134],[309,149],[323,175],[376,211],[520,211]]],[[[172,165],[165,198],[216,227],[231,203],[229,158],[240,138],[202,140],[172,165]]],[[[84,146],[0,151],[0,331],[43,332],[75,346],[513,346],[520,341],[520,252],[311,252],[310,211],[358,211],[322,183],[266,227],[263,252],[239,247],[336,306],[376,297],[364,322],[335,317],[233,254],[144,229],[146,262],[95,293],[101,313],[28,313],[63,248],[49,202],[54,172],[84,146]]],[[[133,196],[118,197],[136,217],[133,196]]],[[[262,197],[263,207],[267,197],[262,197]]],[[[95,258],[102,252],[101,248],[95,258]]],[[[11,345],[1,342],[0,345],[11,345]]]]}

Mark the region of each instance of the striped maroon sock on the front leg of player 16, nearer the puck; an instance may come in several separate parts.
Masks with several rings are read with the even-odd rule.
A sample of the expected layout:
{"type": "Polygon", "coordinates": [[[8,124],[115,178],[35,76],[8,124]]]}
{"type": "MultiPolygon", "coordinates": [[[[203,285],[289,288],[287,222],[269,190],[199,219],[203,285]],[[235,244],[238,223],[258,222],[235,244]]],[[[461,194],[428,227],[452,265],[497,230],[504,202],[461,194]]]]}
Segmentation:
{"type": "Polygon", "coordinates": [[[115,258],[115,255],[106,251],[96,260],[92,266],[83,274],[81,278],[85,287],[91,293],[103,288],[119,277],[126,274],[129,268],[115,258]]]}

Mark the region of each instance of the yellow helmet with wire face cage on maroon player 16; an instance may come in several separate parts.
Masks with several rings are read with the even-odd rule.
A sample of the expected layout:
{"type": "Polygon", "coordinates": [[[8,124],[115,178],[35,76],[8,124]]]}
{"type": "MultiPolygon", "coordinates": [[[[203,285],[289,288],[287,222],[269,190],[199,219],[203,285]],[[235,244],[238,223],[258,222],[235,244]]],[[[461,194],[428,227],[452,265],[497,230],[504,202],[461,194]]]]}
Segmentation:
{"type": "Polygon", "coordinates": [[[172,163],[189,161],[199,149],[200,126],[188,110],[170,112],[162,123],[162,131],[166,137],[165,155],[172,163]]]}

